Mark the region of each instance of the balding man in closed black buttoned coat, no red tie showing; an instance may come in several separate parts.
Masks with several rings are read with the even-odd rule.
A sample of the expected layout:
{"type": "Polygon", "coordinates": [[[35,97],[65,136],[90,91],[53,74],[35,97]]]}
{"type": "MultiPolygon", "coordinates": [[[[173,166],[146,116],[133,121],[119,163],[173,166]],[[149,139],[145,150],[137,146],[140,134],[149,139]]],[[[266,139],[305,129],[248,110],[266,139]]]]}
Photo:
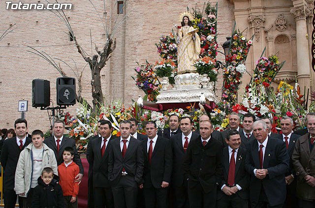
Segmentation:
{"type": "Polygon", "coordinates": [[[183,162],[189,206],[215,208],[217,185],[222,175],[222,147],[219,141],[211,138],[213,126],[210,121],[202,121],[199,130],[200,137],[190,141],[183,162]]]}

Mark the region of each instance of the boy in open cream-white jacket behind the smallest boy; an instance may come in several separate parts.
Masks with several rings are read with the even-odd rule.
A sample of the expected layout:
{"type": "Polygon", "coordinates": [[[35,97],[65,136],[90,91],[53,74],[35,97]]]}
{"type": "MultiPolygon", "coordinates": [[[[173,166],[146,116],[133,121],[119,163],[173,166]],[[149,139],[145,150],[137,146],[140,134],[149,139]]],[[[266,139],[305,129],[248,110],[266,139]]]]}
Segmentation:
{"type": "Polygon", "coordinates": [[[23,198],[23,208],[31,208],[32,192],[38,185],[37,179],[44,168],[50,167],[58,174],[54,151],[49,149],[43,141],[43,132],[34,130],[32,143],[23,149],[16,167],[14,190],[23,198]]]}

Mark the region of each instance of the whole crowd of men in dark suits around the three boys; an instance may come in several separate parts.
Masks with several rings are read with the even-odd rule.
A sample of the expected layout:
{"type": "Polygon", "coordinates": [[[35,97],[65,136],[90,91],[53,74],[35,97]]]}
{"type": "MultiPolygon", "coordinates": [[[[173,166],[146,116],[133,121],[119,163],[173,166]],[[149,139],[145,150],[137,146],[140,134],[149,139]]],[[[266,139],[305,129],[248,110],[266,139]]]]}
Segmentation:
{"type": "MultiPolygon", "coordinates": [[[[121,136],[115,137],[110,121],[98,121],[87,147],[89,208],[315,208],[315,113],[306,116],[307,128],[296,132],[293,120],[282,117],[280,134],[272,132],[271,119],[252,114],[244,115],[241,128],[239,115],[231,113],[229,129],[222,132],[207,115],[196,131],[191,118],[177,115],[160,131],[148,121],[146,135],[137,132],[137,124],[122,121],[121,136]]],[[[4,142],[1,152],[8,208],[16,201],[19,152],[30,143],[26,130],[17,125],[17,136],[4,142]]],[[[59,165],[62,149],[75,142],[63,136],[62,122],[53,132],[44,142],[59,165]]],[[[77,151],[73,161],[80,181],[77,151]]]]}

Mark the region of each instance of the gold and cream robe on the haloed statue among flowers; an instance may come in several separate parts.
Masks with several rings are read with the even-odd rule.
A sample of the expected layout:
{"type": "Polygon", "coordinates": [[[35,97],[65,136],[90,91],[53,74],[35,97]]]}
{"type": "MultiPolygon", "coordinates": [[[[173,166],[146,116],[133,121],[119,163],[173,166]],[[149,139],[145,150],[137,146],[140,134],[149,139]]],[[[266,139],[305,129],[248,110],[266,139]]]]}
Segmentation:
{"type": "Polygon", "coordinates": [[[191,26],[180,28],[177,43],[177,74],[196,72],[193,64],[200,54],[200,38],[196,30],[191,26]]]}

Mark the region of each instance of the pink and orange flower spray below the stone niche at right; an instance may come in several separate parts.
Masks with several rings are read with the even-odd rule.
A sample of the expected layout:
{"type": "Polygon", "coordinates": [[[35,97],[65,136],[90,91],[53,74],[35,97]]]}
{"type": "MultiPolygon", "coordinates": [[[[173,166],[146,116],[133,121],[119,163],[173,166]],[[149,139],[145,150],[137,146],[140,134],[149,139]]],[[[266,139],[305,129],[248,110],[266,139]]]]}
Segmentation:
{"type": "Polygon", "coordinates": [[[270,57],[261,57],[256,61],[256,68],[252,76],[252,82],[263,83],[268,87],[274,80],[280,69],[283,67],[284,62],[279,63],[279,58],[276,55],[270,57]]]}

